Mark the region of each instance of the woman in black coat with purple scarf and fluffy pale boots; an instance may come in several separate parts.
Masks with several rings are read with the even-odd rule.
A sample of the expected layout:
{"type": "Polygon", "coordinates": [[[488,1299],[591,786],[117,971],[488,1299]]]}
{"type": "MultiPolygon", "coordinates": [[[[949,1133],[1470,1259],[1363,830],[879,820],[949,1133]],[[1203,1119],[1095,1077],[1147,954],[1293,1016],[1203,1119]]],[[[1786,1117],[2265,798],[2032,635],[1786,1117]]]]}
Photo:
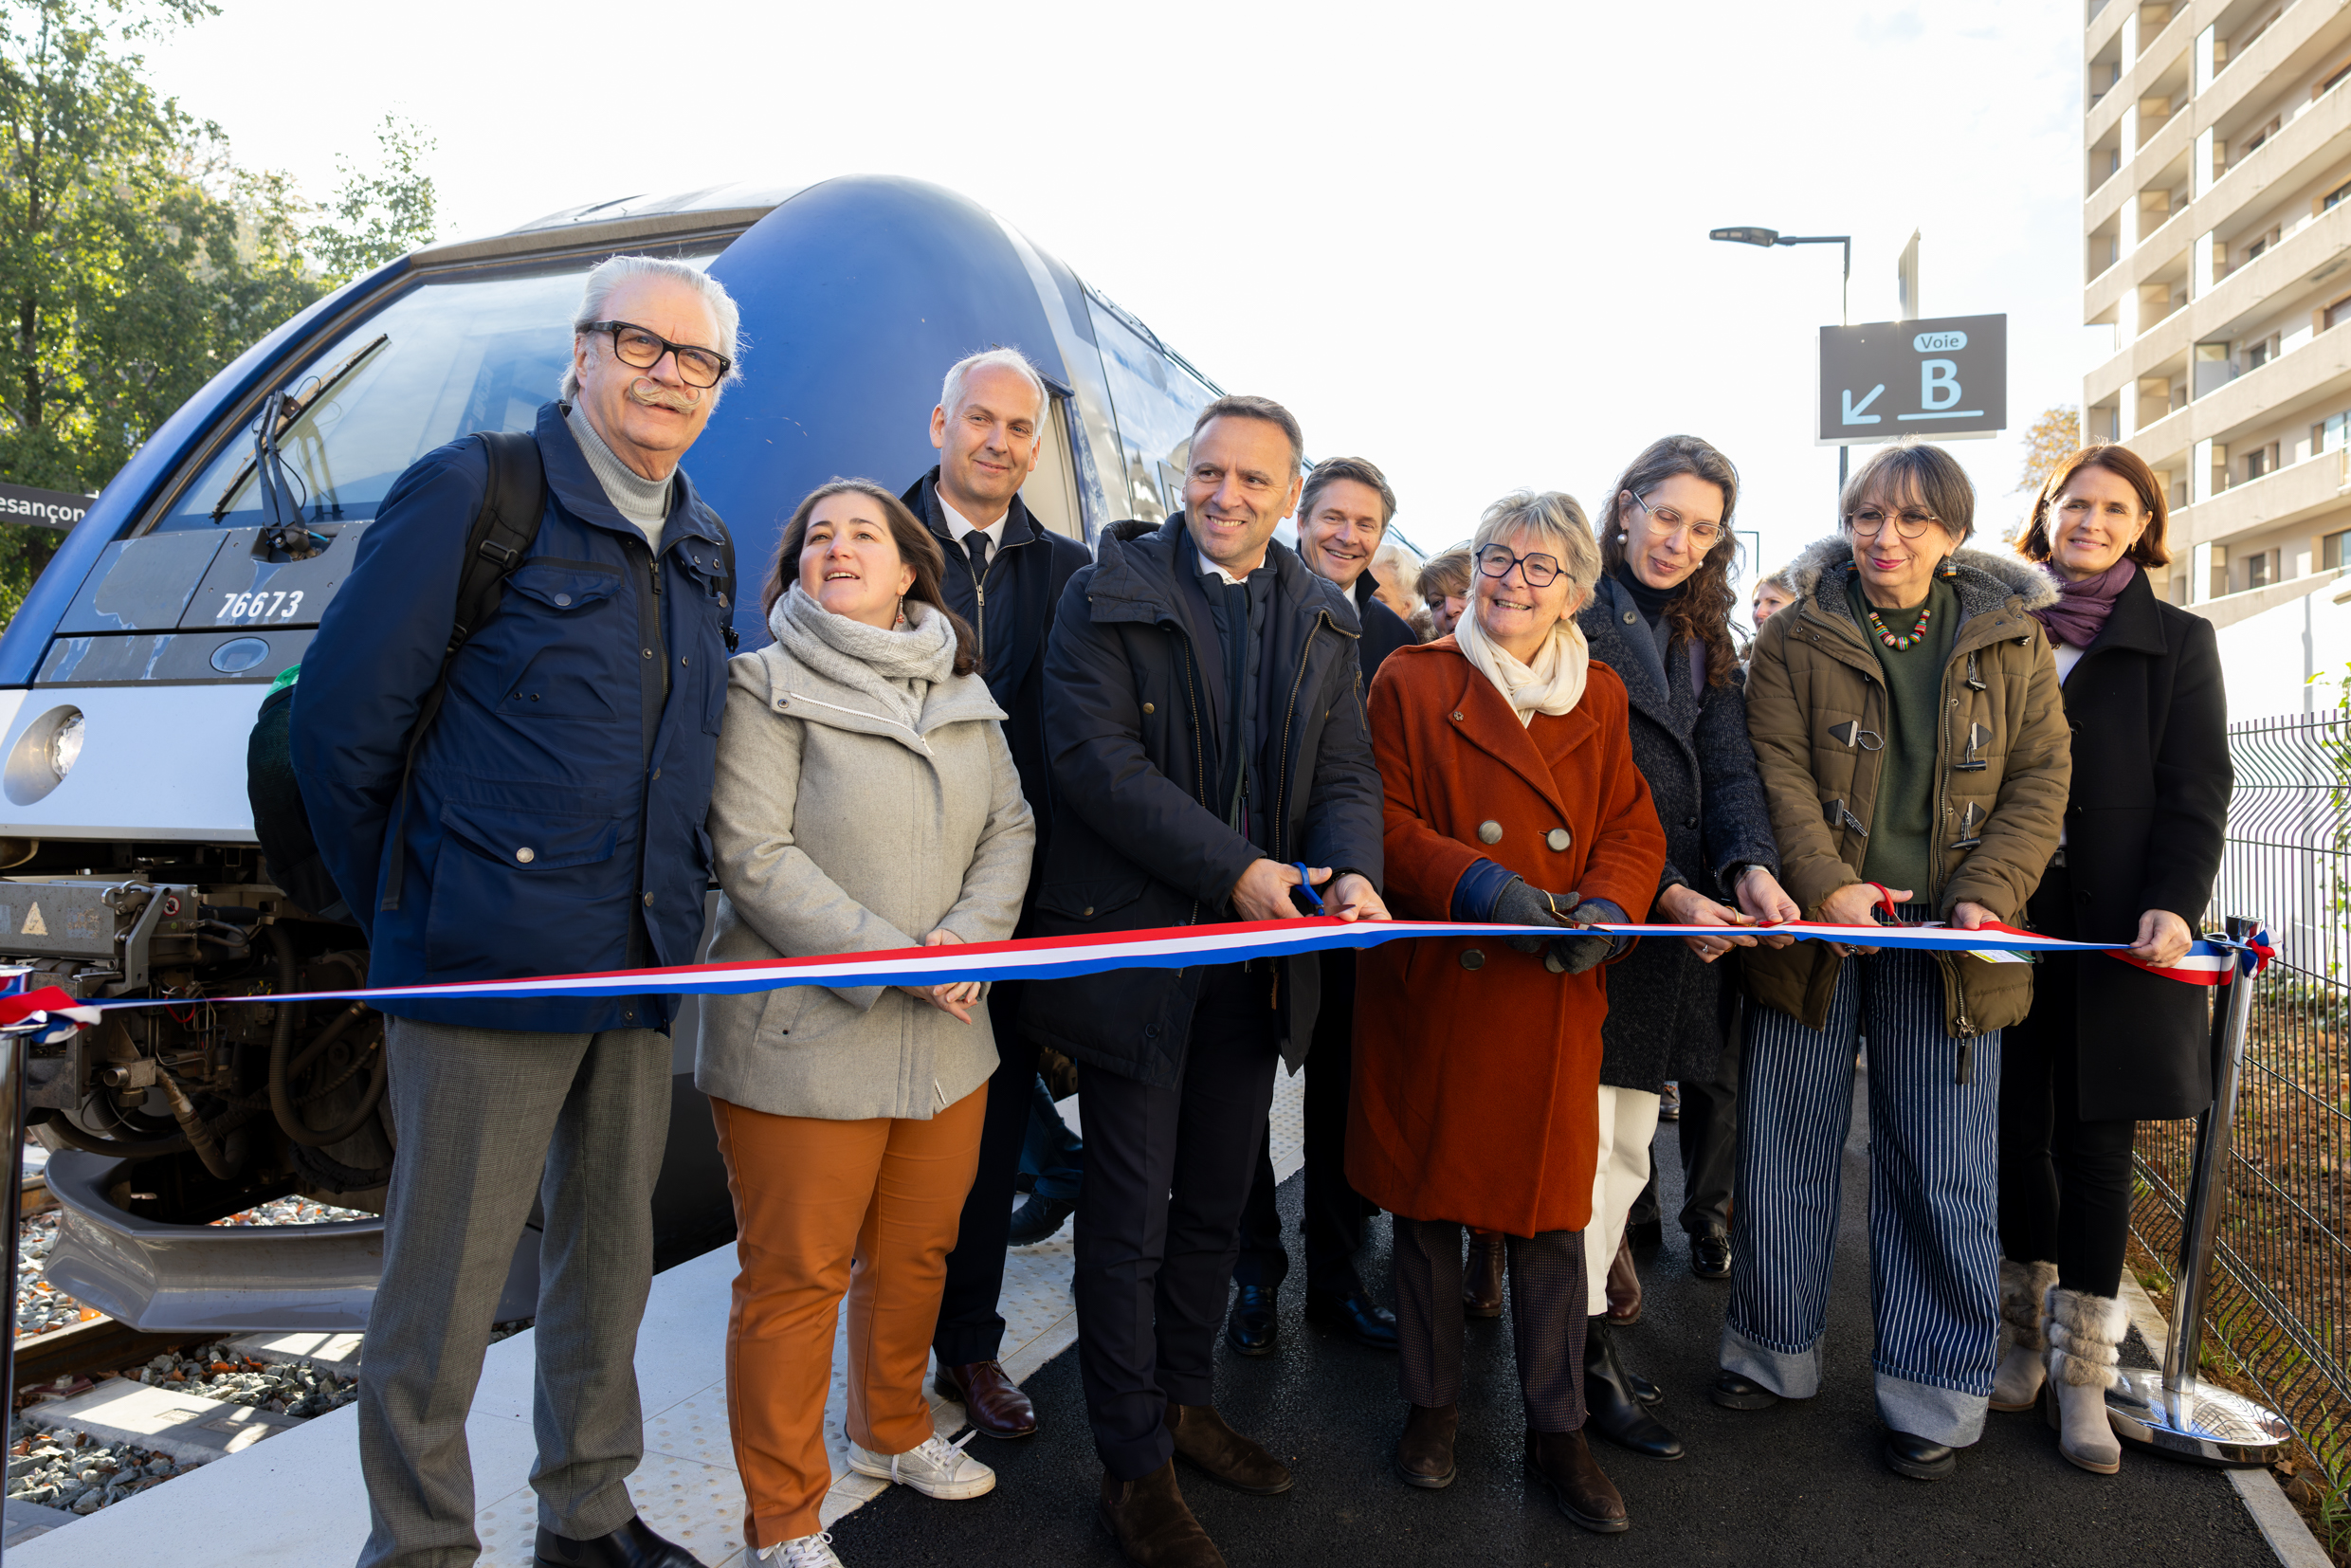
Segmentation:
{"type": "MultiPolygon", "coordinates": [[[[2022,552],[2057,581],[2034,611],[2074,726],[2064,839],[2029,919],[2177,964],[2229,818],[2226,698],[2212,623],[2161,602],[2163,484],[2128,447],[2076,451],[2034,505],[2022,552]]],[[[2212,1100],[2210,997],[2104,954],[2048,954],[2001,1063],[2001,1316],[1994,1410],[2048,1385],[2059,1450],[2114,1474],[2106,1385],[2128,1328],[2116,1291],[2139,1121],[2212,1100]]]]}

